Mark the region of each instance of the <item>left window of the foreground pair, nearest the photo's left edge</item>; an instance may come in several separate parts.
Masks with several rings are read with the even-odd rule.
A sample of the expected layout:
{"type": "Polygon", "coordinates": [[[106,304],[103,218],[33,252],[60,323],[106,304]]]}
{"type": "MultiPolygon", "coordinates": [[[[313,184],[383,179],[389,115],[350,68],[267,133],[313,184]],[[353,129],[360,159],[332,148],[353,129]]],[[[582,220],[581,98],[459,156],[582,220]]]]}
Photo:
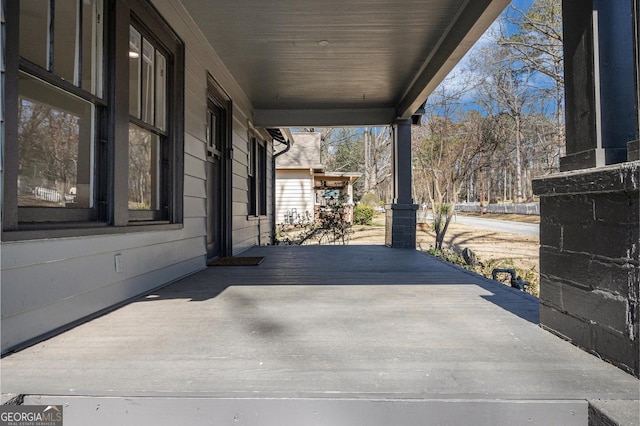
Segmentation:
{"type": "Polygon", "coordinates": [[[102,1],[19,5],[18,220],[95,220],[102,1]]]}

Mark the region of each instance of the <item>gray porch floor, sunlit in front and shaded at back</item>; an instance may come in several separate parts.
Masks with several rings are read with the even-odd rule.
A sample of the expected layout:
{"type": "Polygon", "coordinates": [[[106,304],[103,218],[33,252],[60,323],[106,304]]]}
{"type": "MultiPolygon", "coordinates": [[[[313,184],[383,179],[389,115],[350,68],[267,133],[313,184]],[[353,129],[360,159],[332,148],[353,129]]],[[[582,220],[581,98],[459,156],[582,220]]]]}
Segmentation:
{"type": "MultiPolygon", "coordinates": [[[[564,424],[586,424],[587,401],[604,411],[622,403],[626,421],[636,421],[639,381],[542,330],[537,299],[522,292],[414,250],[269,246],[242,255],[265,260],[209,267],[4,357],[5,399],[66,404],[67,418],[90,413],[94,425],[113,424],[96,404],[133,413],[141,401],[153,410],[181,398],[192,413],[195,404],[223,420],[238,404],[280,413],[278,404],[297,400],[298,414],[311,404],[316,415],[325,404],[344,412],[340,404],[352,401],[380,422],[370,424],[385,424],[384,416],[357,408],[363,401],[417,419],[395,424],[423,424],[426,408],[415,407],[467,413],[447,424],[483,424],[496,411],[473,407],[510,402],[531,404],[522,414],[534,416],[530,424],[556,411],[574,420],[564,424]]],[[[267,418],[233,424],[278,424],[267,418]]],[[[305,424],[337,424],[318,419],[305,424]]]]}

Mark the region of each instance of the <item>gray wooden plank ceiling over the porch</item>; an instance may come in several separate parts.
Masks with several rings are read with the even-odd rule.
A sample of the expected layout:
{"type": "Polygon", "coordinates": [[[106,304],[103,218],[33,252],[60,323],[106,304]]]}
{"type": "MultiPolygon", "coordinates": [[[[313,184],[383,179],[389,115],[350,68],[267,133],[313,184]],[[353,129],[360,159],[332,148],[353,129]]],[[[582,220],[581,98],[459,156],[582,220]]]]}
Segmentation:
{"type": "Polygon", "coordinates": [[[410,118],[509,0],[182,0],[258,127],[410,118]]]}

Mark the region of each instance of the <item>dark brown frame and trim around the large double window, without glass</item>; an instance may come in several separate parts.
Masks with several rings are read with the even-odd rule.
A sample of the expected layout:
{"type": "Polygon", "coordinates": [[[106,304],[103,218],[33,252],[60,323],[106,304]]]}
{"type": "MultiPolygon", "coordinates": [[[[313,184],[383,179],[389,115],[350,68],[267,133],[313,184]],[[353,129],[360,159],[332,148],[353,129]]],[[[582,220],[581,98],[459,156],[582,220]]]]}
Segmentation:
{"type": "Polygon", "coordinates": [[[182,228],[185,54],[184,43],[178,35],[146,0],[106,0],[102,20],[102,97],[98,97],[20,58],[19,2],[9,2],[5,7],[5,40],[8,48],[5,50],[6,143],[2,239],[13,241],[182,228]],[[169,52],[171,56],[166,58],[167,110],[164,127],[168,142],[164,147],[166,164],[163,165],[166,172],[160,184],[161,192],[165,193],[161,205],[165,211],[160,216],[142,218],[135,217],[128,210],[128,50],[129,26],[134,21],[139,25],[137,28],[144,28],[160,43],[163,53],[169,52]],[[24,208],[18,208],[18,76],[21,70],[95,105],[94,207],[88,217],[86,211],[77,214],[73,212],[75,209],[44,208],[46,212],[38,212],[35,210],[37,207],[27,207],[34,209],[30,218],[22,213],[24,208]],[[122,99],[127,101],[115,101],[122,99]],[[24,221],[25,217],[29,223],[24,221]]]}

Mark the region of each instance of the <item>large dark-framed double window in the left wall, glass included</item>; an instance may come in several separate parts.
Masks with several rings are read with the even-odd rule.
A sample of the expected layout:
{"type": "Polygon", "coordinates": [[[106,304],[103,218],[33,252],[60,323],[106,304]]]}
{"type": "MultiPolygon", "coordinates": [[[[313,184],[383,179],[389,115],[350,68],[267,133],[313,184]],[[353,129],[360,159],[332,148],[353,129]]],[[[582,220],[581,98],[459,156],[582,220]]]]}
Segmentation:
{"type": "Polygon", "coordinates": [[[182,220],[183,44],[107,4],[6,4],[4,231],[182,220]]]}

